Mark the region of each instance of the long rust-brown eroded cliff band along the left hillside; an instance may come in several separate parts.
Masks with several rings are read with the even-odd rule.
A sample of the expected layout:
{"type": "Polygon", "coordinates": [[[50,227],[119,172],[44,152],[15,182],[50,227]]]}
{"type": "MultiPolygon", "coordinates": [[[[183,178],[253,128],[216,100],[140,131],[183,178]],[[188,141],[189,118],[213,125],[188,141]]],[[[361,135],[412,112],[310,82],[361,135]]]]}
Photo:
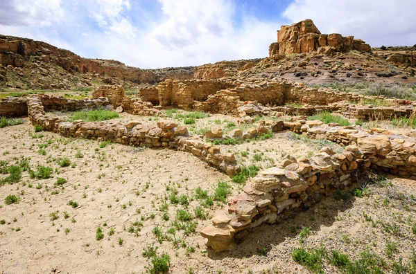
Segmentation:
{"type": "Polygon", "coordinates": [[[42,62],[55,63],[69,73],[98,73],[119,77],[131,82],[157,82],[157,75],[114,60],[87,59],[71,51],[27,38],[0,35],[0,64],[24,66],[32,56],[41,57],[42,62]]]}

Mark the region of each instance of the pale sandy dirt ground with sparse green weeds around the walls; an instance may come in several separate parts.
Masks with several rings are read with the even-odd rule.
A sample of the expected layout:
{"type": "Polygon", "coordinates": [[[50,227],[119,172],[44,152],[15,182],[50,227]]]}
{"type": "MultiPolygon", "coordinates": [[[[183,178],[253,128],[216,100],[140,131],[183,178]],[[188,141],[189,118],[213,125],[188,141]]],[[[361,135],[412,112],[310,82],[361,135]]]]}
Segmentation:
{"type": "MultiPolygon", "coordinates": [[[[291,257],[293,249],[301,246],[299,234],[304,227],[311,228],[311,235],[304,239],[306,248],[322,244],[357,259],[369,246],[385,259],[385,272],[392,272],[400,257],[404,264],[414,260],[416,267],[412,257],[415,181],[390,177],[389,184],[368,186],[371,194],[366,197],[327,197],[283,223],[257,228],[236,250],[214,254],[198,231],[209,225],[210,217],[225,203],[214,201],[214,206],[205,208],[196,199],[196,189],[211,194],[218,181],[225,181],[232,187],[232,197],[241,185],[227,175],[185,152],[74,140],[50,132],[33,134],[27,119],[24,125],[0,129],[1,161],[12,165],[30,158],[33,170],[37,165],[53,169],[50,179],[33,179],[23,172],[19,183],[0,186],[0,220],[5,220],[0,225],[1,273],[144,273],[150,259],[142,253],[151,244],[157,246],[158,255],[170,255],[170,273],[309,273],[291,257]],[[59,158],[68,158],[69,166],[61,167],[59,158]],[[56,185],[58,178],[67,182],[56,185]],[[172,203],[173,190],[187,202],[172,203]],[[7,205],[9,194],[19,201],[7,205]],[[78,206],[71,207],[69,201],[78,206]],[[197,218],[196,208],[202,208],[205,219],[197,218]],[[191,222],[198,222],[194,232],[185,235],[184,230],[177,230],[174,237],[168,233],[177,210],[191,212],[191,222]],[[101,240],[96,239],[98,227],[103,231],[101,240]],[[397,242],[392,256],[386,253],[387,240],[397,242]]],[[[293,140],[287,133],[222,146],[236,154],[248,149],[248,157],[237,156],[245,165],[252,163],[253,154],[263,153],[262,168],[284,154],[310,156],[318,148],[319,144],[293,140]]],[[[0,174],[0,179],[6,176],[0,174]]],[[[323,271],[337,273],[339,269],[324,264],[323,271]]]]}

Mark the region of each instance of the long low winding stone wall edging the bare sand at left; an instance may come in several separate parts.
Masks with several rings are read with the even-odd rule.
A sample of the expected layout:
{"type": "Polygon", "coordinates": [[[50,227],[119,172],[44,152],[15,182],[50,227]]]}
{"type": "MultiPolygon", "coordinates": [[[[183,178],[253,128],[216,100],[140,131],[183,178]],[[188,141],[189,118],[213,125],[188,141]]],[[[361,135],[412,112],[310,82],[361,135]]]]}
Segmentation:
{"type": "Polygon", "coordinates": [[[130,121],[125,125],[119,122],[84,122],[76,120],[64,122],[58,117],[45,113],[39,96],[28,98],[28,117],[33,125],[41,125],[46,131],[53,131],[65,137],[110,140],[115,143],[152,148],[169,147],[182,149],[233,176],[240,171],[234,155],[222,153],[218,146],[205,143],[202,138],[189,137],[186,127],[178,127],[170,121],[159,120],[157,125],[143,125],[130,121]]]}

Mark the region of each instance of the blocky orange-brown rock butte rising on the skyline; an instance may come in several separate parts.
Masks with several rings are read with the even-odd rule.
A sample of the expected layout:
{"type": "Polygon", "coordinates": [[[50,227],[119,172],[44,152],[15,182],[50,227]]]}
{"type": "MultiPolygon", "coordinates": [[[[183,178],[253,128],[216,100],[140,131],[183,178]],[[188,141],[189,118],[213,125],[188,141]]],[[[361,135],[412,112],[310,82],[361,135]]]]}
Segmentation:
{"type": "Polygon", "coordinates": [[[306,19],[291,26],[281,26],[277,32],[277,43],[270,45],[269,55],[275,57],[285,53],[331,53],[351,50],[370,52],[371,48],[363,40],[354,39],[354,36],[321,34],[313,21],[306,19]]]}

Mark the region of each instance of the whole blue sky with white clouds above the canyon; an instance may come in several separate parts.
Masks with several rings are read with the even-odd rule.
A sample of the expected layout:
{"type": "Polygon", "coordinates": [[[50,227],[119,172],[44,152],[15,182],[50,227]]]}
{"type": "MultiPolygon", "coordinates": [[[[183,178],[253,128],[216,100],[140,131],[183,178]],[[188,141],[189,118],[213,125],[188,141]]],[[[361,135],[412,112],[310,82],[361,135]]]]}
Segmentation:
{"type": "Polygon", "coordinates": [[[416,44],[416,0],[0,0],[0,33],[155,69],[268,55],[282,24],[416,44]]]}

